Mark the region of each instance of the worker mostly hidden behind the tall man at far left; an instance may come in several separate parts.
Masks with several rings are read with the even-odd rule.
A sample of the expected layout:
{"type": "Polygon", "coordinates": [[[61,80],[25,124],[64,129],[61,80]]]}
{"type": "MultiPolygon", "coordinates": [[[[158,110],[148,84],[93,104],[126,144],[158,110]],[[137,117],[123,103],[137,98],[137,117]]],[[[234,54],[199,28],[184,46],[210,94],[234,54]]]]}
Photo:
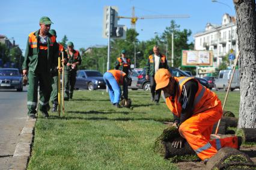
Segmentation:
{"type": "MultiPolygon", "coordinates": [[[[50,29],[50,34],[54,35],[57,38],[56,31],[54,29],[50,29]]],[[[64,64],[67,63],[67,53],[64,47],[58,43],[58,55],[62,58],[62,52],[64,53],[64,59],[61,59],[61,62],[64,64]]],[[[52,102],[52,112],[57,111],[58,103],[58,69],[52,70],[52,93],[50,94],[50,101],[52,102]]]]}

